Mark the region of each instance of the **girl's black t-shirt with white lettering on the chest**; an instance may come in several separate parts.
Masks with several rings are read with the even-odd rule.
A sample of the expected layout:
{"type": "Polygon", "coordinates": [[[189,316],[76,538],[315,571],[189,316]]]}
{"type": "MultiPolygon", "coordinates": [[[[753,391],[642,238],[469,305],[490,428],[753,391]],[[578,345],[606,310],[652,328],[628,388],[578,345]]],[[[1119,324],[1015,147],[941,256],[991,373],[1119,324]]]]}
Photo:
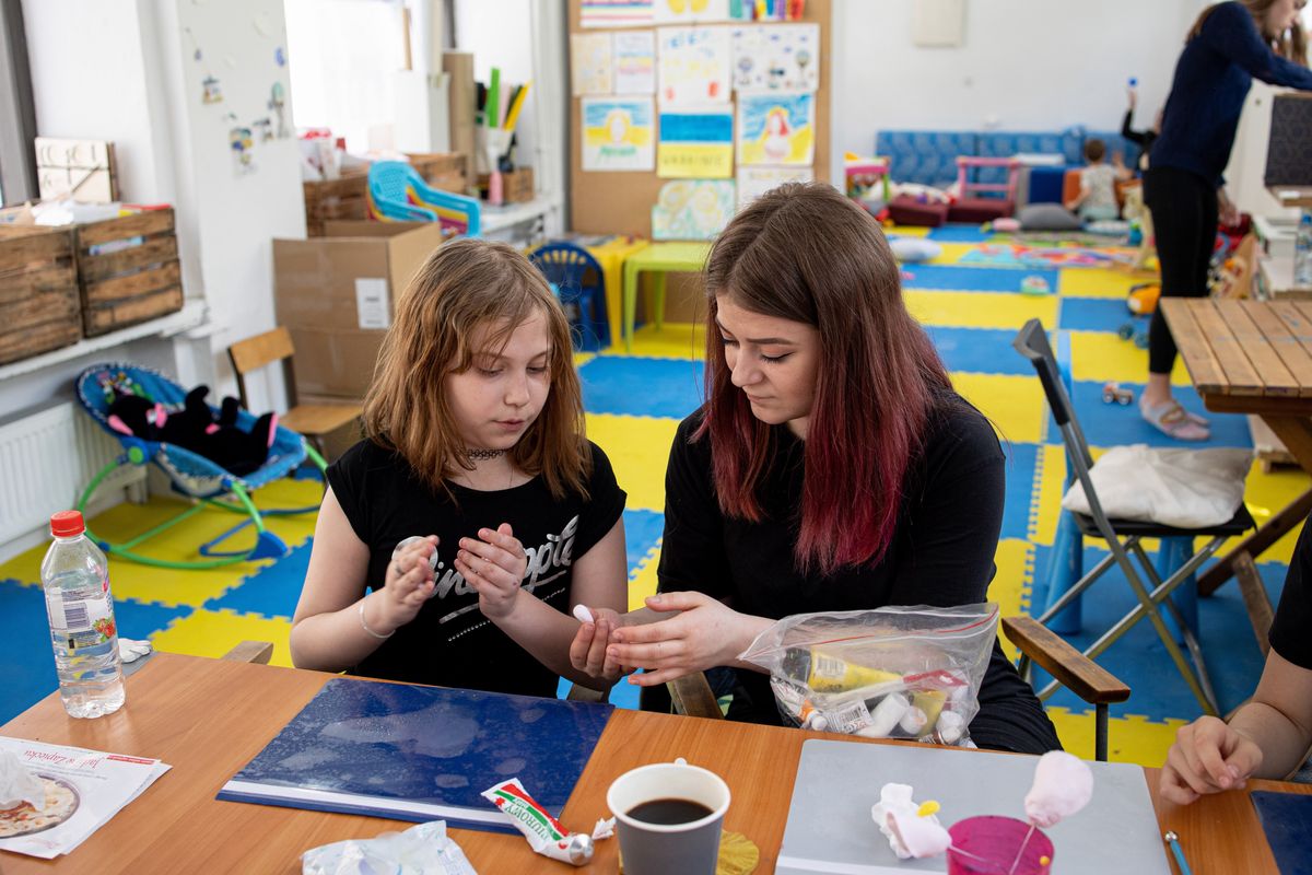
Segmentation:
{"type": "MultiPolygon", "coordinates": [[[[568,614],[573,561],[592,550],[625,509],[610,460],[588,442],[588,497],[552,497],[542,476],[480,492],[450,484],[455,501],[420,479],[399,454],[361,441],[328,467],[328,484],[356,535],[369,547],[369,589],[380,589],[398,543],[437,535],[437,586],[413,621],[396,630],[352,674],[438,686],[554,697],[556,673],[479,611],[479,597],[454,560],[461,538],[510,523],[529,555],[523,590],[568,614]]],[[[363,597],[366,588],[361,588],[363,597]]]]}

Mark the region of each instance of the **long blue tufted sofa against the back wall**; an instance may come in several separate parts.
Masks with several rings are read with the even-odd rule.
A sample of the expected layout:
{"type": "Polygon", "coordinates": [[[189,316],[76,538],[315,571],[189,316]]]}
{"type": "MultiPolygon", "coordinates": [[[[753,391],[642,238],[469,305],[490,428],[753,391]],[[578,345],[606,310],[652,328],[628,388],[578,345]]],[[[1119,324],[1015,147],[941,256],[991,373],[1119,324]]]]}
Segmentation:
{"type": "MultiPolygon", "coordinates": [[[[1127,167],[1138,167],[1139,147],[1120,136],[1120,131],[1086,131],[1069,127],[1064,131],[879,131],[875,155],[888,157],[888,176],[893,182],[918,182],[946,188],[956,181],[956,156],[1008,157],[1018,152],[1060,153],[1065,167],[1080,167],[1084,143],[1098,138],[1107,144],[1107,153],[1120,152],[1127,167]]],[[[977,182],[1005,182],[1002,168],[980,168],[977,182]]]]}

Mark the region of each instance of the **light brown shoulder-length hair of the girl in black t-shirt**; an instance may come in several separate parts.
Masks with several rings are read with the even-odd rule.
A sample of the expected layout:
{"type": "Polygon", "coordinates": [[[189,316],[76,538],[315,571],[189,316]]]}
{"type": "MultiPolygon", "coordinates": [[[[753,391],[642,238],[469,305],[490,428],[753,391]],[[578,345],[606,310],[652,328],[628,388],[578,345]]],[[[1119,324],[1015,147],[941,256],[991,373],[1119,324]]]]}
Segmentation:
{"type": "Polygon", "coordinates": [[[504,243],[453,240],[438,248],[396,302],[373,384],[365,395],[365,434],[399,453],[434,489],[450,495],[454,466],[472,470],[446,399],[449,374],[474,363],[471,338],[488,329],[493,350],[541,315],[547,324],[551,391],[538,418],[508,454],[551,495],[586,495],[592,457],[584,438],[583,394],[573,367],[569,323],[546,278],[504,243]]]}

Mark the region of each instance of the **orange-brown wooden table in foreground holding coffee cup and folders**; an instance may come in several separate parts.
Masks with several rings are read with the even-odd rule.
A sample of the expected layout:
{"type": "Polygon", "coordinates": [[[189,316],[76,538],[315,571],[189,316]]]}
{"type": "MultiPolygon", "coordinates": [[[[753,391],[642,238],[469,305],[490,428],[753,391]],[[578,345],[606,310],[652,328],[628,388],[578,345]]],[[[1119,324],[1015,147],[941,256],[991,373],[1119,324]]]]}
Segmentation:
{"type": "MultiPolygon", "coordinates": [[[[214,795],[308,702],[332,674],[159,653],[127,680],[127,706],[98,720],[67,718],[50,695],[0,733],[96,750],[159,757],[172,765],[142,796],[72,854],[39,861],[0,855],[5,875],[26,872],[299,872],[300,853],[333,841],[373,837],[407,824],[269,805],[218,802],[214,795]]],[[[606,787],[623,771],[686,757],[719,773],[733,794],[726,829],[761,849],[758,875],[774,870],[783,840],[792,777],[802,743],[813,732],[617,710],[562,815],[567,826],[590,828],[607,816],[606,787]]],[[[867,743],[878,744],[878,743],[867,743]]],[[[1156,798],[1157,774],[1147,769],[1161,828],[1181,836],[1199,872],[1275,872],[1245,792],[1204,799],[1187,808],[1156,798]]],[[[871,777],[871,781],[878,778],[871,777]]],[[[1312,792],[1270,781],[1256,790],[1312,792]]],[[[533,854],[518,836],[451,830],[484,874],[569,871],[533,854]]],[[[617,871],[618,842],[597,844],[580,871],[617,871]]]]}

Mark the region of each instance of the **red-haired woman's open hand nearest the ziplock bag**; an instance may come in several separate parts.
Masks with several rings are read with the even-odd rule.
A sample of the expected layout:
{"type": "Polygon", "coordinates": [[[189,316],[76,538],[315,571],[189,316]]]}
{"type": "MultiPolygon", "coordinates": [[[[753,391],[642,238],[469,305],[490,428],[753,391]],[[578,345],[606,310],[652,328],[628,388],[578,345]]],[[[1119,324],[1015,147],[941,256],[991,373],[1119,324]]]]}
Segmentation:
{"type": "Polygon", "coordinates": [[[702,593],[660,593],[647,600],[653,611],[680,611],[677,617],[617,628],[606,659],[646,669],[630,683],[656,686],[716,665],[732,665],[737,655],[773,621],[739,614],[702,593]]]}

